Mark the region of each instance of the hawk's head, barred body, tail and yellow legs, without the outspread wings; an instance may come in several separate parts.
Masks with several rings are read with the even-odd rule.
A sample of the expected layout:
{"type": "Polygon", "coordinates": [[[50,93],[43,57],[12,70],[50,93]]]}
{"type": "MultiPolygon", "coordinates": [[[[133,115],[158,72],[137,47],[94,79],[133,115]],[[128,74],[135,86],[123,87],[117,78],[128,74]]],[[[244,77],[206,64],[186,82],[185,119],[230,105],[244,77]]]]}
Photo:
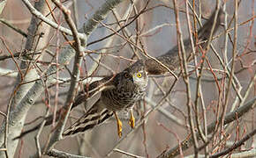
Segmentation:
{"type": "MultiPolygon", "coordinates": [[[[109,78],[109,77],[108,77],[109,78]]],[[[106,80],[106,78],[104,79],[106,80]]],[[[63,135],[72,135],[85,132],[94,126],[100,125],[113,113],[117,118],[117,133],[122,135],[122,122],[117,117],[117,111],[129,110],[131,114],[130,125],[134,126],[132,106],[145,95],[147,88],[147,71],[143,63],[133,64],[132,67],[115,75],[102,90],[102,95],[86,114],[79,118],[63,135]],[[110,86],[111,85],[111,86],[110,86]]],[[[74,104],[80,104],[86,94],[79,93],[74,104]]]]}

